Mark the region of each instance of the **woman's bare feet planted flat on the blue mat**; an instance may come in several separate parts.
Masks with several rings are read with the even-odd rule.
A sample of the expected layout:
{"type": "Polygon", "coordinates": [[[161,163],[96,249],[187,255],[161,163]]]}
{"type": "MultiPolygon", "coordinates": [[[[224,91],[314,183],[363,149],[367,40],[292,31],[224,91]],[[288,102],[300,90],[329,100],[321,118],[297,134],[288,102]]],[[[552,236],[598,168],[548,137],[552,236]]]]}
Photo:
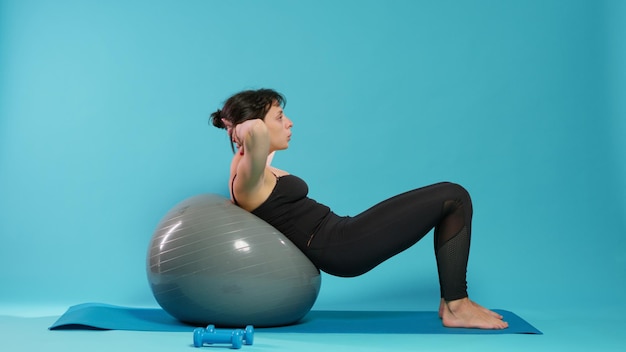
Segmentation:
{"type": "Polygon", "coordinates": [[[450,328],[506,329],[509,326],[500,314],[467,297],[450,302],[441,300],[439,317],[443,325],[450,328]]]}

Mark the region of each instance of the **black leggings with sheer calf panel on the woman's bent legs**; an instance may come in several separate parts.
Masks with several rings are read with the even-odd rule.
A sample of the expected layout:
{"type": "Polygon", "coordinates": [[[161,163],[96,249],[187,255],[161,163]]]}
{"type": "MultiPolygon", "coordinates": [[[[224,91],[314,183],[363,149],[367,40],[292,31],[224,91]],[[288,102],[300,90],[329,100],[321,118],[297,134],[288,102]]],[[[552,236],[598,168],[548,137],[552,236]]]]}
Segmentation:
{"type": "Polygon", "coordinates": [[[467,260],[472,223],[468,192],[438,183],[387,199],[354,217],[331,213],[316,230],[305,254],[322,271],[352,277],[411,247],[431,229],[441,297],[467,297],[467,260]]]}

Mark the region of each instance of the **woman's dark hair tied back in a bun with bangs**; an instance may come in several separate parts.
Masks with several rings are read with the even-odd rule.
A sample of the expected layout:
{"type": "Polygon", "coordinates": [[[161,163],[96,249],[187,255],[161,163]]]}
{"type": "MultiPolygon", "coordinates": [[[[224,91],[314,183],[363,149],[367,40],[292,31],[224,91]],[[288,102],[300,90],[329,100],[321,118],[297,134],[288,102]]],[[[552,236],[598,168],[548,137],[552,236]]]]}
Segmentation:
{"type": "MultiPolygon", "coordinates": [[[[252,120],[264,119],[272,105],[285,107],[285,97],[273,89],[244,90],[226,100],[222,109],[211,114],[211,122],[217,128],[226,128],[222,119],[230,121],[233,128],[238,124],[252,120]]],[[[232,138],[230,147],[235,151],[232,138]]]]}

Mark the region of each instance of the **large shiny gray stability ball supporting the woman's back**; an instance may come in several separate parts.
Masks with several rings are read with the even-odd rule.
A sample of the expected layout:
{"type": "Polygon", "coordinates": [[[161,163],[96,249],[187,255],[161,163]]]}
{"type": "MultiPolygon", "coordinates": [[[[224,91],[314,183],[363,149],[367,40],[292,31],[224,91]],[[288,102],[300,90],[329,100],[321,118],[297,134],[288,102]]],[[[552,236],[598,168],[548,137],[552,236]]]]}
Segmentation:
{"type": "Polygon", "coordinates": [[[213,194],[177,204],[158,224],[147,258],[157,302],[196,325],[288,325],[317,299],[320,271],[283,234],[213,194]]]}

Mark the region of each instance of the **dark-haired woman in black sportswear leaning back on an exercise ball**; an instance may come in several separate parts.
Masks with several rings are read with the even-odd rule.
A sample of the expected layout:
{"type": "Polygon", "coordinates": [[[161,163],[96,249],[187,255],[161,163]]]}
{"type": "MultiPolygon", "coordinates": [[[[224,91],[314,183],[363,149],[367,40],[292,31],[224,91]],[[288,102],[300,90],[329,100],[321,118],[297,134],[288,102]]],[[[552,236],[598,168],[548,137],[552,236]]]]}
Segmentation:
{"type": "Polygon", "coordinates": [[[237,152],[230,169],[232,201],[289,238],[320,270],[336,276],[366,273],[411,247],[434,228],[441,300],[447,327],[504,329],[502,316],[468,298],[466,269],[472,203],[453,183],[439,183],[385,200],[354,217],[338,216],[307,197],[300,178],[270,166],[287,149],[293,122],[285,98],[274,90],[243,91],[211,114],[227,129],[237,152]]]}

